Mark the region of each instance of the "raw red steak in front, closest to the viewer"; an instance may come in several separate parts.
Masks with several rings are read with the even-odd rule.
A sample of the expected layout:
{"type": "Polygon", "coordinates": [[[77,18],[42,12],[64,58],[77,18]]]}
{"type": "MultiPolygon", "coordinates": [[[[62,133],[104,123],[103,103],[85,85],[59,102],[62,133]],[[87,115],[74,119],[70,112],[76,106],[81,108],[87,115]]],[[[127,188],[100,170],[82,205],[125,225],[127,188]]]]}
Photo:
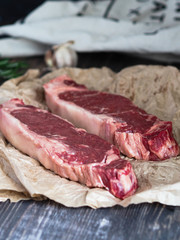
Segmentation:
{"type": "Polygon", "coordinates": [[[12,145],[61,177],[106,188],[121,199],[137,188],[131,164],[115,146],[48,111],[12,99],[0,105],[0,130],[12,145]]]}

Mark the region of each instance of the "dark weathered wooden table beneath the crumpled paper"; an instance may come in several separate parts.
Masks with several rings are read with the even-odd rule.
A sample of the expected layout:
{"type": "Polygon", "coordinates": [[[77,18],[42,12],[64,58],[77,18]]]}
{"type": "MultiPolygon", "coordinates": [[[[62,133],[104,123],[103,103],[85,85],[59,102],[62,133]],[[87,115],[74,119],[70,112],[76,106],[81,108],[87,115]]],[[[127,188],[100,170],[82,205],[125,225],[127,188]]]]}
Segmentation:
{"type": "MultiPolygon", "coordinates": [[[[26,59],[45,70],[42,57],[26,59]]],[[[78,67],[107,66],[118,72],[136,64],[163,64],[118,53],[81,53],[78,67]]],[[[174,65],[174,64],[172,64],[174,65]]],[[[180,68],[180,65],[174,65],[180,68]]],[[[67,208],[53,201],[0,203],[0,240],[178,240],[180,207],[159,203],[127,208],[67,208]]]]}

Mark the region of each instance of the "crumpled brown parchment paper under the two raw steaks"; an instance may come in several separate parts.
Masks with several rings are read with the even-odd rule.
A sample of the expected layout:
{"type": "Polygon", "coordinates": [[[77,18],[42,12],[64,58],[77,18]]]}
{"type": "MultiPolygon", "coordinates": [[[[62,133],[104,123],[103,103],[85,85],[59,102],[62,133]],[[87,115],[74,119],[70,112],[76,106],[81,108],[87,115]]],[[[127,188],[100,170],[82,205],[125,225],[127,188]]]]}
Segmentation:
{"type": "MultiPolygon", "coordinates": [[[[47,109],[42,86],[62,74],[89,89],[124,95],[148,113],[172,121],[175,138],[180,144],[180,72],[174,67],[139,65],[117,74],[105,67],[63,68],[42,78],[38,77],[38,70],[29,70],[0,87],[0,103],[17,97],[26,104],[47,109]]],[[[104,189],[88,188],[61,178],[15,149],[0,135],[0,200],[49,198],[68,207],[92,208],[116,204],[126,207],[143,202],[180,206],[180,156],[160,162],[129,160],[139,188],[133,196],[120,200],[104,189]]]]}

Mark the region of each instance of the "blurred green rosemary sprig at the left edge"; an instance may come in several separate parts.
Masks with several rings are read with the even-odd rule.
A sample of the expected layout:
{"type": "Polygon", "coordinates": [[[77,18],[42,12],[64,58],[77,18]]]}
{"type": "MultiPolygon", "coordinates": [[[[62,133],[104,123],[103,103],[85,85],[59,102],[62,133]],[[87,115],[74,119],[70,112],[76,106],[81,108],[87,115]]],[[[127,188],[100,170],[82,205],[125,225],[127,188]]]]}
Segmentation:
{"type": "Polygon", "coordinates": [[[0,60],[0,78],[3,80],[16,78],[22,75],[27,68],[28,68],[28,64],[24,61],[14,62],[7,58],[1,59],[0,60]]]}

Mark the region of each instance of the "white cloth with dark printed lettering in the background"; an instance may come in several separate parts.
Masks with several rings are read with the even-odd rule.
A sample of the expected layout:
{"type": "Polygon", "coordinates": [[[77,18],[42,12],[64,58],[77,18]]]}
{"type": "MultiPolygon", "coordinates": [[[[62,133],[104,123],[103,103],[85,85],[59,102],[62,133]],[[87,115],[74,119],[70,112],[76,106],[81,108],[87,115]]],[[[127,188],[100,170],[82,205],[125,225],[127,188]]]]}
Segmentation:
{"type": "Polygon", "coordinates": [[[120,51],[180,61],[177,0],[47,1],[23,23],[0,27],[0,56],[44,54],[74,40],[82,51],[120,51]]]}

